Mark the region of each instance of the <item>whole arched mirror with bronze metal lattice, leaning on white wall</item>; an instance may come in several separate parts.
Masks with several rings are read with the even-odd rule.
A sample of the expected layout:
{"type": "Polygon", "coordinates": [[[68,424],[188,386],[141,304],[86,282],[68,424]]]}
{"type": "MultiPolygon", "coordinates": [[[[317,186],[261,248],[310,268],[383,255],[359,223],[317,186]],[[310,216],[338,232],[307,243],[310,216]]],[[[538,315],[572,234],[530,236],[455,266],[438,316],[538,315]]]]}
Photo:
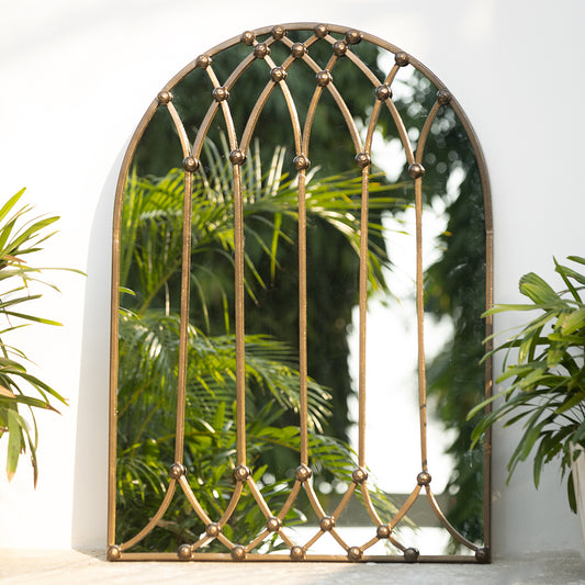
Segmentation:
{"type": "Polygon", "coordinates": [[[306,23],[201,54],[113,250],[110,560],[488,560],[487,175],[414,57],[306,23]]]}

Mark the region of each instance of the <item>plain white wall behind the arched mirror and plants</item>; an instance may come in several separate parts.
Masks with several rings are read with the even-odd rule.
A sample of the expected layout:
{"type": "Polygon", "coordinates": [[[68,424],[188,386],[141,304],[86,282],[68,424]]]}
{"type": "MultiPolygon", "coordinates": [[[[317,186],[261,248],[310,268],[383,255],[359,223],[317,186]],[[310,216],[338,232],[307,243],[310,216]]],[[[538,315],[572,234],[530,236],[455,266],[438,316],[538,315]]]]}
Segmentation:
{"type": "MultiPolygon", "coordinates": [[[[38,311],[60,329],[19,340],[70,407],[41,419],[41,479],[0,474],[0,547],[104,544],[111,216],[120,156],[147,104],[188,61],[244,30],[348,24],[403,47],[441,78],[482,142],[493,187],[495,297],[528,270],[584,255],[581,189],[585,3],[580,0],[19,0],[0,2],[0,199],[27,187],[61,215],[43,261],[63,294],[38,311]]],[[[496,326],[508,326],[507,317],[496,326]]],[[[494,439],[496,555],[578,547],[552,473],[505,486],[511,432],[494,439]]],[[[2,449],[5,449],[4,447],[2,449]]],[[[1,457],[1,455],[0,455],[1,457]]],[[[0,461],[3,468],[3,463],[0,461]]]]}

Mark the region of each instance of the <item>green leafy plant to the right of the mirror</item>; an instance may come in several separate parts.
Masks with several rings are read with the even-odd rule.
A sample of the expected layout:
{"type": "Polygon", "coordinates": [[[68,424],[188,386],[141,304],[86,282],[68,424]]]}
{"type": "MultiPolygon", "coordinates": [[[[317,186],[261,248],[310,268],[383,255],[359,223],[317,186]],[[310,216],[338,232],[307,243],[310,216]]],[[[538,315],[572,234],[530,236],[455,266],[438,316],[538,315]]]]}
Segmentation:
{"type": "Polygon", "coordinates": [[[476,406],[469,418],[494,400],[503,398],[475,427],[473,445],[498,420],[505,427],[522,425],[522,435],[508,462],[508,482],[517,464],[531,455],[538,487],[542,466],[559,461],[562,476],[569,473],[569,504],[575,513],[578,508],[585,542],[585,258],[570,256],[569,260],[576,269],[554,259],[563,290],[554,291],[530,272],[519,282],[520,292],[530,303],[495,305],[485,313],[538,311],[518,334],[484,357],[485,360],[505,351],[503,372],[496,383],[511,384],[476,406]],[[511,352],[513,349],[517,351],[511,352]]]}

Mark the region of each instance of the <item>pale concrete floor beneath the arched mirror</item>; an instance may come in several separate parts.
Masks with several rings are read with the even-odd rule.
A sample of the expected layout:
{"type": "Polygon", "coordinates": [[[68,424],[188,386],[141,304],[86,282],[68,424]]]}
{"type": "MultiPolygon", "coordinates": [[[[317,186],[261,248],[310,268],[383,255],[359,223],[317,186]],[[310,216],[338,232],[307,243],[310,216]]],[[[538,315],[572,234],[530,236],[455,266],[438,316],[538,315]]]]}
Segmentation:
{"type": "Polygon", "coordinates": [[[529,585],[585,584],[585,561],[543,553],[477,564],[179,563],[117,562],[69,550],[0,550],[0,583],[34,585],[209,583],[223,585],[529,585]]]}

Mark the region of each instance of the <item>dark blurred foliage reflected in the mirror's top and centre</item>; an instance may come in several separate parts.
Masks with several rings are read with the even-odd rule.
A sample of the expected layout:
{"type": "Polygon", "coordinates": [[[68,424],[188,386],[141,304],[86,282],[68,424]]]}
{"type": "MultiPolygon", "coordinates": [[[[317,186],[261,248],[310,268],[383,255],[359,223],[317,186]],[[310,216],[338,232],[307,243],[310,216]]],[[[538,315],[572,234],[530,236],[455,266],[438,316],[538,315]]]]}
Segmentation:
{"type": "MultiPolygon", "coordinates": [[[[307,32],[289,32],[289,37],[294,42],[302,42],[306,36],[307,32]]],[[[384,79],[386,74],[378,66],[376,46],[362,42],[353,45],[351,50],[368,64],[379,79],[384,79]]],[[[250,52],[251,47],[238,44],[213,57],[213,69],[220,83],[227,80],[235,64],[250,52]]],[[[322,68],[325,68],[331,56],[331,45],[319,41],[312,45],[308,54],[322,68]]],[[[286,47],[279,43],[272,45],[270,56],[277,65],[282,64],[289,55],[290,49],[286,47]]],[[[230,91],[229,109],[238,137],[260,91],[270,79],[269,72],[268,63],[257,59],[230,91]]],[[[374,100],[374,88],[370,81],[348,58],[342,58],[336,64],[333,76],[336,86],[342,88],[344,100],[351,115],[362,124],[367,124],[374,100]]],[[[302,59],[296,60],[289,69],[286,85],[291,89],[303,123],[315,91],[315,72],[302,59]]],[[[202,69],[194,69],[172,88],[173,104],[191,139],[194,138],[213,101],[212,89],[211,81],[202,69]]],[[[225,132],[225,127],[222,116],[217,115],[210,128],[210,136],[218,144],[222,132],[225,132]]],[[[255,136],[259,139],[263,160],[271,158],[273,145],[283,145],[286,151],[283,172],[294,171],[291,122],[280,90],[274,91],[265,105],[255,136]]],[[[351,140],[348,139],[347,125],[333,103],[331,97],[325,91],[311,133],[308,157],[312,166],[318,167],[323,176],[336,176],[355,166],[355,155],[351,140]]],[[[134,158],[138,175],[166,176],[169,169],[180,166],[182,157],[176,131],[170,124],[167,112],[158,111],[146,128],[134,158]],[[160,145],[165,147],[161,148],[160,145]]],[[[393,209],[393,205],[390,207],[393,209]]],[[[383,205],[381,209],[384,209],[383,205]]],[[[379,222],[379,213],[375,209],[372,210],[372,222],[379,222]]],[[[284,220],[282,229],[286,233],[294,229],[294,222],[284,220]]],[[[372,237],[380,247],[384,246],[375,235],[372,237]]],[[[347,246],[344,234],[320,217],[313,217],[313,224],[307,233],[307,244],[310,270],[307,286],[313,297],[307,316],[311,346],[308,373],[330,389],[333,417],[327,421],[328,431],[340,439],[347,439],[349,427],[347,402],[352,393],[348,369],[347,334],[351,327],[351,312],[357,304],[359,261],[353,250],[347,246]],[[318,291],[319,294],[315,294],[318,291]],[[322,294],[322,291],[327,291],[327,294],[322,294]]],[[[279,338],[285,340],[291,348],[297,349],[299,331],[294,310],[297,257],[292,248],[282,248],[279,254],[280,285],[278,288],[270,285],[259,291],[258,304],[249,302],[247,314],[250,323],[261,324],[265,331],[278,331],[279,338]],[[261,308],[256,308],[257,306],[261,308]]],[[[270,262],[266,256],[258,261],[260,265],[270,262]]]]}

